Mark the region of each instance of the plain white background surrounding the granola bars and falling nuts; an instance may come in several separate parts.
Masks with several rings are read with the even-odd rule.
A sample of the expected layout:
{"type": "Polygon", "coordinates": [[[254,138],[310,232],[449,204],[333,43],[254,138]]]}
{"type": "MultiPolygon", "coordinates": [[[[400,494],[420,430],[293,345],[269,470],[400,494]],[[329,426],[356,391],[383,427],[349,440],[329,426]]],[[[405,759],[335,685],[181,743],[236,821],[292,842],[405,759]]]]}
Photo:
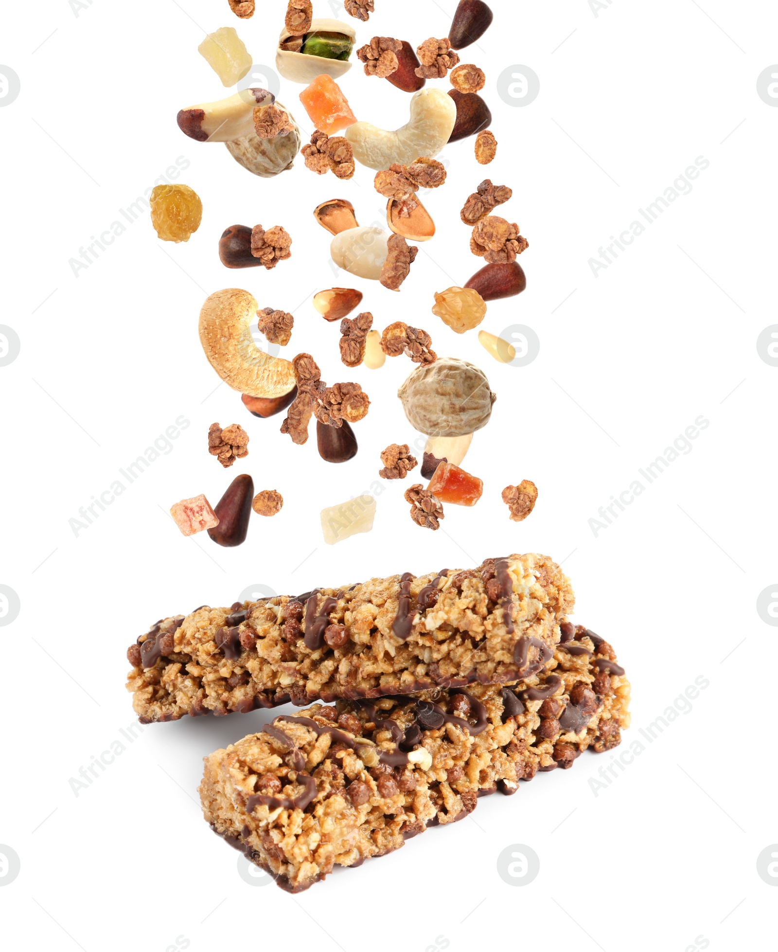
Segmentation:
{"type": "MultiPolygon", "coordinates": [[[[456,3],[376,6],[366,25],[341,10],[359,43],[384,34],[416,46],[448,30],[456,3]]],[[[756,600],[778,579],[778,368],[760,359],[756,339],[778,322],[778,109],[758,97],[756,79],[778,62],[778,10],[723,0],[613,0],[598,15],[587,0],[493,6],[494,26],[462,56],[487,73],[496,162],[477,166],[472,140],[444,150],[448,182],[424,196],[438,235],[392,294],[334,274],[329,236],[311,216],[338,196],[360,223],[380,221],[372,171],[341,183],[298,160],[259,179],[176,126],[178,109],[230,91],[198,54],[204,30],[236,27],[254,61],[272,64],[282,0],[258,0],[249,21],[226,0],[93,0],[77,16],[67,0],[4,5],[0,63],[21,77],[21,94],[0,109],[0,323],[21,339],[18,359],[0,367],[0,583],[21,600],[0,628],[0,843],[21,861],[14,882],[0,879],[7,947],[772,947],[778,892],[756,860],[778,842],[776,631],[756,600]],[[540,78],[525,108],[497,93],[498,74],[514,64],[540,78]],[[204,203],[191,241],[159,242],[144,215],[75,277],[68,259],[124,221],[119,208],[179,156],[191,163],[179,181],[204,203]],[[690,194],[594,277],[597,249],[698,156],[710,168],[690,194]],[[490,305],[482,327],[533,327],[541,349],[530,367],[496,364],[475,331],[457,336],[430,312],[434,291],[464,284],[482,264],[458,209],[485,174],[514,189],[501,213],[531,247],[521,258],[527,290],[490,305]],[[292,258],[269,272],[227,271],[217,242],[236,223],[282,224],[292,258]],[[395,397],[405,358],[379,371],[340,365],[337,325],[310,304],[334,284],[362,288],[376,327],[403,318],[427,328],[438,354],[474,361],[497,393],[465,461],[485,481],[483,498],[476,509],[447,506],[437,533],[411,523],[403,486],[391,484],[369,535],[323,544],[321,507],[367,490],[379,450],[418,436],[395,397]],[[293,310],[289,356],[310,351],[329,383],[367,390],[352,462],[323,463],[315,440],[293,446],[281,417],[257,420],[236,393],[215,389],[197,318],[206,294],[232,285],[262,307],[293,310]],[[691,451],[595,536],[598,507],[699,415],[710,426],[691,451]],[[172,450],[76,536],[68,520],[79,507],[179,416],[190,426],[172,450]],[[247,459],[228,471],[205,451],[214,421],[241,423],[251,437],[247,459]],[[235,549],[180,535],[169,506],[200,492],[215,504],[243,471],[257,490],[282,492],[282,513],[254,517],[235,549]],[[521,479],[535,481],[539,500],[515,524],[499,493],[521,479]],[[208,830],[196,793],[202,757],[270,713],[152,725],[133,744],[120,733],[134,723],[126,646],[161,616],[229,605],[247,585],[297,592],[469,567],[506,550],[564,560],[575,619],[613,642],[632,679],[633,726],[615,754],[638,741],[645,750],[597,796],[590,779],[611,754],[587,753],[513,799],[482,800],[466,821],[293,898],[243,882],[239,854],[208,830]],[[639,729],[698,677],[710,686],[691,710],[645,742],[639,729]],[[76,796],[70,778],[115,741],[124,752],[76,796]],[[540,858],[523,888],[496,869],[515,843],[540,858]]],[[[330,15],[324,0],[314,7],[330,15]]],[[[359,64],[341,87],[360,118],[406,121],[409,97],[359,64]]],[[[300,90],[283,81],[279,99],[307,137],[300,90]]]]}

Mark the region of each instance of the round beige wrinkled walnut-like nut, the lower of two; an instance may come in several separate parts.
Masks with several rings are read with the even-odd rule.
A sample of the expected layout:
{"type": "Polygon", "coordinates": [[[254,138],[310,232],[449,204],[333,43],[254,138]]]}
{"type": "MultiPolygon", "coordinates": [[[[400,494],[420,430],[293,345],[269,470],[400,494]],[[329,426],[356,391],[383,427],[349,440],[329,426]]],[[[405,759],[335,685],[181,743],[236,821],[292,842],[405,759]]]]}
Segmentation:
{"type": "Polygon", "coordinates": [[[417,367],[398,396],[408,422],[428,436],[475,433],[489,423],[496,401],[483,370],[456,357],[417,367]]]}

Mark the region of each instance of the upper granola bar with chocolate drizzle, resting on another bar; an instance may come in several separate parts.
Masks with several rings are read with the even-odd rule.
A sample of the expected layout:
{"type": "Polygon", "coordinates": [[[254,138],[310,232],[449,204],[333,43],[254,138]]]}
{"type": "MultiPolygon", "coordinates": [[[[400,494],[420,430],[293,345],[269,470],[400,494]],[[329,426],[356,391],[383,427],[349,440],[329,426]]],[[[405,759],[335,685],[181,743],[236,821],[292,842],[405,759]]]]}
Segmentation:
{"type": "Polygon", "coordinates": [[[574,605],[547,556],[487,559],[163,619],[130,645],[143,724],[185,714],[507,684],[539,669],[574,605]]]}

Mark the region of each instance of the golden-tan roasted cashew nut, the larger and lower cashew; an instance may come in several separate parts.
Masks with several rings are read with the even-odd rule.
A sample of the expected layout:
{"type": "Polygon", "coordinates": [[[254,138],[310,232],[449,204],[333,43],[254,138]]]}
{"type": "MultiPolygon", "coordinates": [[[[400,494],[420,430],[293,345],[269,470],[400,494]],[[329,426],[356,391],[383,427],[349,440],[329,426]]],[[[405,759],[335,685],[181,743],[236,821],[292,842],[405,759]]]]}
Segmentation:
{"type": "Polygon", "coordinates": [[[281,397],[295,386],[294,369],[254,343],[248,328],[258,309],[248,291],[216,291],[200,311],[200,343],[211,367],[233,390],[252,397],[281,397]]]}

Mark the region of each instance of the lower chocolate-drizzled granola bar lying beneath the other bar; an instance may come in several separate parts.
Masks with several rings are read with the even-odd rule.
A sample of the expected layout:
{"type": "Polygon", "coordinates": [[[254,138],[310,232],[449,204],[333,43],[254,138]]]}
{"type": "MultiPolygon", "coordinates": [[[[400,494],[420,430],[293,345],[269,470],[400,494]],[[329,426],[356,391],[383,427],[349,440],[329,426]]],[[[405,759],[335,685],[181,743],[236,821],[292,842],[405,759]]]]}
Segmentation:
{"type": "MultiPolygon", "coordinates": [[[[384,856],[477,798],[515,793],[587,747],[620,743],[630,684],[613,648],[582,626],[542,671],[416,697],[314,704],[204,759],[212,829],[289,892],[333,866],[384,856]]],[[[564,636],[563,636],[564,637],[564,636]]]]}

